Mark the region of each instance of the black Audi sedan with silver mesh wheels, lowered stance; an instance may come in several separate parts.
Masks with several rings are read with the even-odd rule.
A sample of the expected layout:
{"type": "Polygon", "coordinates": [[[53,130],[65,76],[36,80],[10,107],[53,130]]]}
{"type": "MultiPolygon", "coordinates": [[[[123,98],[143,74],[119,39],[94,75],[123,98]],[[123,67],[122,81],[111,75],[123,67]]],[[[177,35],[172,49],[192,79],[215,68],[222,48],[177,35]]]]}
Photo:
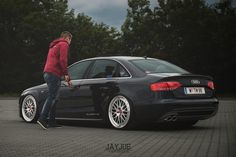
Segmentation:
{"type": "MultiPolygon", "coordinates": [[[[103,120],[117,129],[141,122],[191,126],[218,110],[211,77],[191,74],[164,60],[97,57],[68,67],[73,87],[62,81],[56,119],[103,120]]],[[[42,84],[22,92],[20,117],[35,122],[47,97],[42,84]]]]}

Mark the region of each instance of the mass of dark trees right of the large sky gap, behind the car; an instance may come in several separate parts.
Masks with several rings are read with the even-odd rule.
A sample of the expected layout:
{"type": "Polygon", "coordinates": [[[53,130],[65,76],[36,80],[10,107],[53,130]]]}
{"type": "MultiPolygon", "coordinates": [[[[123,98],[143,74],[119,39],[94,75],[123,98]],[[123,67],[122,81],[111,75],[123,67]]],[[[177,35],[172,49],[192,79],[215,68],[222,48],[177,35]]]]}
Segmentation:
{"type": "Polygon", "coordinates": [[[235,89],[230,82],[236,13],[229,1],[208,6],[203,0],[158,0],[153,10],[148,0],[128,2],[122,26],[126,52],[163,58],[213,76],[220,90],[235,89]]]}

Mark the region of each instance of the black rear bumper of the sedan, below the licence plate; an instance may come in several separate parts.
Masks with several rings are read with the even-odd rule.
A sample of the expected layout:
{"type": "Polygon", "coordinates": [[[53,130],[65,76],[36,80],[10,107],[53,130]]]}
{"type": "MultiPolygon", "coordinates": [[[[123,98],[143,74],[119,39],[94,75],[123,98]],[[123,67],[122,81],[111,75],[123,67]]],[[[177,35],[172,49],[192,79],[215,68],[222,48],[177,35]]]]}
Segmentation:
{"type": "Polygon", "coordinates": [[[203,120],[214,116],[218,111],[219,101],[210,99],[164,99],[152,104],[135,106],[138,121],[164,122],[169,116],[174,121],[203,120]]]}

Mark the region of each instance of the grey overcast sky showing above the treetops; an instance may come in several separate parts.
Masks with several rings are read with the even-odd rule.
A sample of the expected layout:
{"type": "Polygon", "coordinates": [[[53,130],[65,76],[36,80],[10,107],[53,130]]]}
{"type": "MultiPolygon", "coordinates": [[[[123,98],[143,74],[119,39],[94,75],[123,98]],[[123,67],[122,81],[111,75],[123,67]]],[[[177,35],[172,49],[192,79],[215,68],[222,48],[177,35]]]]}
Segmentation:
{"type": "MultiPolygon", "coordinates": [[[[206,1],[213,3],[220,0],[206,1]]],[[[157,5],[157,0],[150,2],[152,7],[157,5]]],[[[120,30],[127,14],[128,0],[68,0],[68,5],[76,14],[84,13],[92,17],[95,22],[103,22],[120,30]]]]}

